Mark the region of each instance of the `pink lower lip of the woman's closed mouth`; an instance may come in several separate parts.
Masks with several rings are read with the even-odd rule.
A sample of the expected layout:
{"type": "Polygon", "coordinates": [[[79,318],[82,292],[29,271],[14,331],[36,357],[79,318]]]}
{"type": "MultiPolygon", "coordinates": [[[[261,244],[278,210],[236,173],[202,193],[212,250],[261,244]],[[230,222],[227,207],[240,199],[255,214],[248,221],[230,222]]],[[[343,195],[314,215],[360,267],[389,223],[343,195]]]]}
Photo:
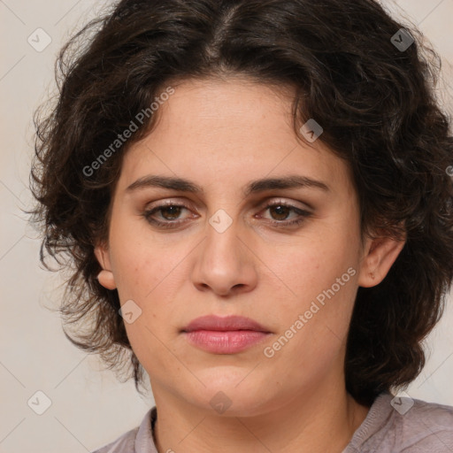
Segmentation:
{"type": "Polygon", "coordinates": [[[184,334],[190,344],[214,354],[240,352],[262,342],[269,335],[255,330],[195,330],[184,334]]]}

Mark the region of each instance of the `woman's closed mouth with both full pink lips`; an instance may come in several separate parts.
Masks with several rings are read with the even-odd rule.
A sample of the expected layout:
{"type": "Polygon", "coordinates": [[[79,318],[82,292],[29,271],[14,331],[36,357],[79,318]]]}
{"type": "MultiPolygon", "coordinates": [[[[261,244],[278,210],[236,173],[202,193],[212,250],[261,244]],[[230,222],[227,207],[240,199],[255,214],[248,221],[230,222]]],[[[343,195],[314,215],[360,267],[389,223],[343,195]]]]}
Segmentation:
{"type": "Polygon", "coordinates": [[[234,354],[263,342],[272,333],[250,318],[208,315],[194,319],[181,334],[198,349],[213,354],[234,354]]]}

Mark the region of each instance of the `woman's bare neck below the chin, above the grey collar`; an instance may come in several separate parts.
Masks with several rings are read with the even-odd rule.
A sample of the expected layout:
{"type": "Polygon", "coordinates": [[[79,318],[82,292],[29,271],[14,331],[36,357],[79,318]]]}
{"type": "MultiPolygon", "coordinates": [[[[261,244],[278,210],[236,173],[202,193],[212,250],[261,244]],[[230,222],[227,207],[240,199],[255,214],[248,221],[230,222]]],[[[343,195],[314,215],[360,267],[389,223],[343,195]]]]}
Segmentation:
{"type": "Polygon", "coordinates": [[[159,453],[341,453],[369,411],[346,390],[323,389],[273,402],[253,416],[227,416],[156,389],[159,453]]]}

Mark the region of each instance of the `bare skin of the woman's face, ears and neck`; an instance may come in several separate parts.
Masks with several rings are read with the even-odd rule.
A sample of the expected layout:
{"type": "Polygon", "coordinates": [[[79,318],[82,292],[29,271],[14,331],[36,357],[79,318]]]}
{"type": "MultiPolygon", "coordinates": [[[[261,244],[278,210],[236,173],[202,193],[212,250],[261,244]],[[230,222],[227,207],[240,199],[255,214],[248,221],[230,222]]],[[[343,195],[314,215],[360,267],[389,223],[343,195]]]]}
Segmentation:
{"type": "Polygon", "coordinates": [[[291,124],[291,91],[232,77],[172,84],[156,126],[124,158],[111,205],[109,240],[98,244],[99,281],[142,310],[125,323],[157,405],[157,449],[341,452],[367,407],[346,392],[343,363],[357,288],[377,285],[403,242],[361,241],[357,194],[347,165],[321,142],[305,143],[291,124]],[[203,194],[167,188],[127,190],[149,174],[185,178],[203,194]],[[314,187],[269,189],[244,196],[251,180],[298,174],[314,187]],[[182,220],[160,228],[143,212],[182,220]],[[288,209],[307,210],[306,218],[288,209]],[[209,219],[233,220],[219,233],[209,219]],[[173,208],[174,210],[174,208],[173,208]],[[303,219],[296,226],[273,226],[303,219]],[[273,357],[272,346],[323,290],[356,273],[326,299],[273,357]],[[374,277],[374,278],[372,278],[374,277]],[[213,354],[188,344],[180,330],[206,314],[242,315],[271,334],[240,353],[213,354]],[[211,398],[231,406],[219,413],[211,398]],[[326,435],[328,432],[328,435],[326,435]]]}

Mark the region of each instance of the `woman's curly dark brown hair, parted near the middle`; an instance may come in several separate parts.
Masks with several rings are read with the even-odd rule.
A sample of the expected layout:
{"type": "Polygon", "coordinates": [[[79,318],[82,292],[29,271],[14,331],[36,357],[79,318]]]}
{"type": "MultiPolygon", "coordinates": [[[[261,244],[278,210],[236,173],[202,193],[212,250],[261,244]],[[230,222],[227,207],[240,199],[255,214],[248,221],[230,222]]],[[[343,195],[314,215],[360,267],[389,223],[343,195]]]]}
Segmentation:
{"type": "Polygon", "coordinates": [[[386,278],[358,288],[344,366],[358,403],[407,386],[425,365],[422,341],[453,279],[453,137],[435,96],[440,70],[417,27],[403,27],[373,0],[113,5],[65,44],[57,103],[35,113],[30,182],[38,203],[29,213],[42,224],[42,264],[50,269],[49,255],[70,271],[59,310],[66,326],[81,321],[84,329],[66,336],[110,368],[126,363],[140,391],[142,365],[117,290],[96,279],[94,247],[108,237],[122,157],[150,132],[158,111],[116,152],[110,148],[96,172],[89,169],[172,81],[245,75],[296,88],[296,134],[316,119],[322,141],[349,165],[363,235],[406,234],[386,278]]]}

